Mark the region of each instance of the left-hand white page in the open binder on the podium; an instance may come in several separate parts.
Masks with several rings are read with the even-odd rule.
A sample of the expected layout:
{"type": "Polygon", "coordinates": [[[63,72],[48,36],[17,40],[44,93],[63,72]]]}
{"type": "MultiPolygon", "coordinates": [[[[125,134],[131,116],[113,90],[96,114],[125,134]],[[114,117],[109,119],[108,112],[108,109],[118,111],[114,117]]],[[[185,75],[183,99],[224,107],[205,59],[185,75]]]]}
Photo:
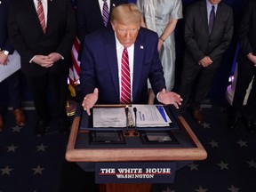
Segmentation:
{"type": "Polygon", "coordinates": [[[124,108],[93,108],[93,127],[126,127],[124,108]]]}

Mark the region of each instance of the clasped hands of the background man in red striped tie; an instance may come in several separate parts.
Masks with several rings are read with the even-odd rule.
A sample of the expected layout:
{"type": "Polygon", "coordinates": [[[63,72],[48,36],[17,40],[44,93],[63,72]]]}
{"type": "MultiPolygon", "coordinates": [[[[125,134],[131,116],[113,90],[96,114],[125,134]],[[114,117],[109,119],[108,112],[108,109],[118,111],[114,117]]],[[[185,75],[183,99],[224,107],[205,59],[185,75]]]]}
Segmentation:
{"type": "Polygon", "coordinates": [[[61,55],[58,52],[52,52],[49,55],[36,55],[33,58],[33,62],[40,65],[43,68],[50,68],[53,64],[61,59],[61,55]]]}

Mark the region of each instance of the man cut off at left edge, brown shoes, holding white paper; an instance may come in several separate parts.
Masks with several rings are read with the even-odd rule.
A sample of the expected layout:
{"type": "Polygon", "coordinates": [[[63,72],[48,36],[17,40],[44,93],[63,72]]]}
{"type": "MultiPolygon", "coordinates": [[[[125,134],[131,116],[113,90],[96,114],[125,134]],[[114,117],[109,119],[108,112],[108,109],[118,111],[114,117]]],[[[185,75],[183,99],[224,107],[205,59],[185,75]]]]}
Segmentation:
{"type": "MultiPolygon", "coordinates": [[[[1,1],[0,4],[0,65],[12,65],[8,62],[9,55],[12,55],[14,49],[9,40],[7,29],[7,10],[9,0],[1,1]]],[[[13,114],[15,116],[15,122],[18,126],[25,125],[25,116],[20,109],[21,94],[20,94],[20,80],[18,72],[7,77],[7,86],[9,91],[10,105],[13,108],[13,114]]],[[[0,97],[4,95],[4,91],[1,91],[0,97]]],[[[2,98],[0,99],[2,101],[2,98]]],[[[4,129],[4,117],[2,116],[4,109],[0,106],[0,132],[4,129]]]]}

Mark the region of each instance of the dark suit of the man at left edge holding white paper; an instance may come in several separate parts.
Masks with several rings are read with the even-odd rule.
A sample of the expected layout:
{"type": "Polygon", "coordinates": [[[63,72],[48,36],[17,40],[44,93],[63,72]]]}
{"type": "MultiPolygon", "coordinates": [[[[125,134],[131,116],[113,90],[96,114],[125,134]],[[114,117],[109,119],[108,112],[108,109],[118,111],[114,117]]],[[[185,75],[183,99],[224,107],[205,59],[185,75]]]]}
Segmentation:
{"type": "MultiPolygon", "coordinates": [[[[4,0],[0,4],[0,49],[8,51],[9,54],[14,52],[14,48],[9,40],[8,29],[7,29],[7,10],[9,6],[9,0],[4,0]]],[[[9,91],[10,105],[12,108],[20,108],[20,85],[19,85],[19,74],[15,72],[12,76],[7,79],[7,86],[9,91]]],[[[2,88],[3,89],[3,88],[2,88]]],[[[1,96],[2,94],[0,94],[1,96]]],[[[0,99],[3,101],[3,98],[0,99]]],[[[2,113],[0,109],[0,113],[2,113]]]]}

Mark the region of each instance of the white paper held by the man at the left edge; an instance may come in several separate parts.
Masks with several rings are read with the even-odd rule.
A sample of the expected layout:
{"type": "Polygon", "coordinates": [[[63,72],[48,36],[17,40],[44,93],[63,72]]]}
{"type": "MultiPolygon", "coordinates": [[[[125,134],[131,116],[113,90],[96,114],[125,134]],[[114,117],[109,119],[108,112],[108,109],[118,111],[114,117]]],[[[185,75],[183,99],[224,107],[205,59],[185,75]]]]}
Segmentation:
{"type": "Polygon", "coordinates": [[[0,82],[20,69],[20,54],[16,51],[8,56],[7,65],[0,65],[0,82]]]}

